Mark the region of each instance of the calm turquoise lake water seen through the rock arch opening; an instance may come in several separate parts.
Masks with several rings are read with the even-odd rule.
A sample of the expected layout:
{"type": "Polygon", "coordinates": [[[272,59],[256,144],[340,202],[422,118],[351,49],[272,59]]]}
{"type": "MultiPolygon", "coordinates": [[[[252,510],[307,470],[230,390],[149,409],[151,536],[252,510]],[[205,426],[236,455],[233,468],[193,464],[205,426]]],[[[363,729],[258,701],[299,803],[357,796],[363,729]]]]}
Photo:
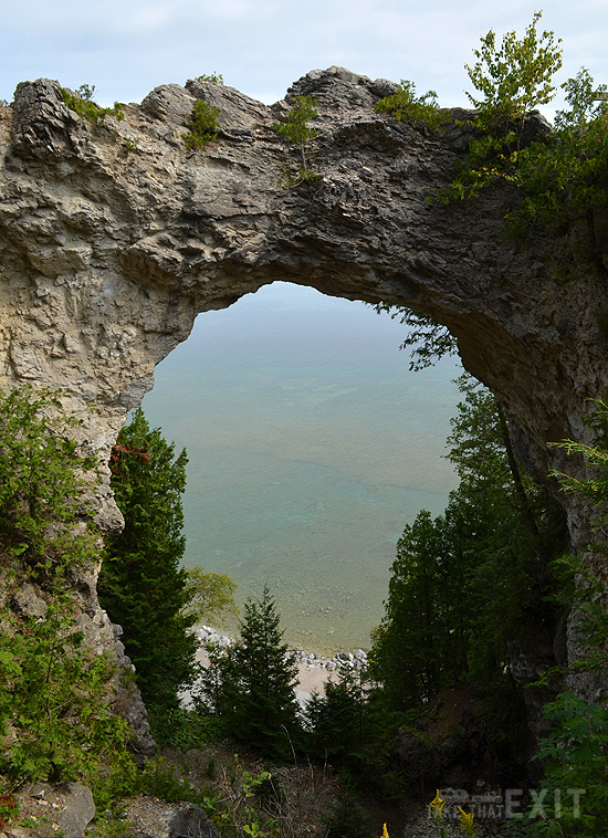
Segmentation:
{"type": "Polygon", "coordinates": [[[457,484],[460,367],[410,373],[402,339],[363,303],[274,283],[200,315],[144,400],[188,451],[185,564],[240,601],[268,583],[292,643],[368,648],[403,526],[457,484]]]}

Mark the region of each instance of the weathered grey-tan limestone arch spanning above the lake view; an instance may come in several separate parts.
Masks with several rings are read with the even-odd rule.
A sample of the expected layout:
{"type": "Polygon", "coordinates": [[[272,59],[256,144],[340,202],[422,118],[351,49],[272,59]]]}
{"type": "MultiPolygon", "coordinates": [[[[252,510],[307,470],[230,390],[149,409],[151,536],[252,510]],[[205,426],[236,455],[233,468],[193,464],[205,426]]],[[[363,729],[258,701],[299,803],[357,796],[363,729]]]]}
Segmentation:
{"type": "MultiPolygon", "coordinates": [[[[584,272],[556,282],[555,240],[523,248],[503,235],[512,187],[429,202],[463,154],[464,129],[429,134],[376,114],[394,91],[340,67],[301,78],[289,93],[318,102],[318,179],[285,189],[298,164],[272,128],[285,102],[195,81],[157,87],[125,106],[124,122],[96,126],[56,82],[20,84],[0,108],[1,386],[65,388],[66,409],[86,418],[83,446],[107,462],[127,410],[196,315],[285,280],[448,325],[530,467],[543,479],[560,469],[547,442],[589,439],[586,399],[608,390],[607,287],[584,272]],[[221,111],[205,153],[184,144],[197,98],[221,111]]],[[[567,502],[581,544],[586,511],[567,502]]],[[[107,483],[98,520],[120,524],[107,483]]]]}

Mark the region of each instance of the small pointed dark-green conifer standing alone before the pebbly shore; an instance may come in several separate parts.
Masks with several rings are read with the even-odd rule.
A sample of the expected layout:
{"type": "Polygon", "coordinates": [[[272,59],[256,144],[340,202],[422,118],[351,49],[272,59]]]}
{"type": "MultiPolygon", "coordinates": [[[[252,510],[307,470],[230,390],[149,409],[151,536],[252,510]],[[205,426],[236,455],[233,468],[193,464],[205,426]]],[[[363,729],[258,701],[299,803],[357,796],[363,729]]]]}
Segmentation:
{"type": "Polygon", "coordinates": [[[300,732],[292,685],[296,667],[285,657],[282,637],[274,600],[264,587],[259,600],[244,605],[239,641],[210,651],[200,695],[227,731],[269,756],[289,753],[289,736],[300,732]]]}

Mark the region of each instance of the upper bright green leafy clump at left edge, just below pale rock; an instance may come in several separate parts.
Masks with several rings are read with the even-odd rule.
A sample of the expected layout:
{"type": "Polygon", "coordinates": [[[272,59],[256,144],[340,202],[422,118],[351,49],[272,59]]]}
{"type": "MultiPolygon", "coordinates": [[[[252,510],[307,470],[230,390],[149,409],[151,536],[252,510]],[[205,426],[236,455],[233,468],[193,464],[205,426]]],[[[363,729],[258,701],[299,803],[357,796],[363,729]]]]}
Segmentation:
{"type": "Polygon", "coordinates": [[[78,455],[71,433],[80,422],[57,413],[60,399],[32,388],[0,392],[0,537],[46,573],[98,552],[94,527],[83,523],[93,463],[78,455]]]}

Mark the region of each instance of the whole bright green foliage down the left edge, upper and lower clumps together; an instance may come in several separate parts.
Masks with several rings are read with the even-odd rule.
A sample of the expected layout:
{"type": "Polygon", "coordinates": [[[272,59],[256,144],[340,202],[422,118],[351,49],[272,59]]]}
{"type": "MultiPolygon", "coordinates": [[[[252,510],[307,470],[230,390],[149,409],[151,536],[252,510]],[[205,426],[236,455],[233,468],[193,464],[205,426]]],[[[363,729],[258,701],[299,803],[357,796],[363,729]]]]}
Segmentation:
{"type": "Polygon", "coordinates": [[[44,597],[38,617],[7,611],[0,622],[0,774],[13,786],[83,776],[96,786],[99,761],[126,760],[126,724],[106,700],[114,669],[85,646],[70,590],[71,568],[98,548],[82,521],[91,463],[60,409],[61,394],[0,394],[1,588],[23,584],[25,563],[44,597]]]}

